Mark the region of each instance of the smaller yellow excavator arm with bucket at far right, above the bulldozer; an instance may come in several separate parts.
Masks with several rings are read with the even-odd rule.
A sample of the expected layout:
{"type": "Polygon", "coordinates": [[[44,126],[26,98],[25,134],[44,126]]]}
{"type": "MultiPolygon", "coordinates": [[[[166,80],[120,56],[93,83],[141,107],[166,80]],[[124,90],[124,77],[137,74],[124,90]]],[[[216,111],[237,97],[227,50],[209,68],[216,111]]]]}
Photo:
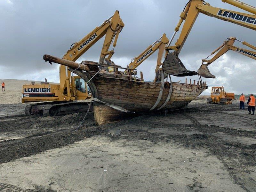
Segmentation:
{"type": "Polygon", "coordinates": [[[216,59],[218,59],[220,56],[222,56],[224,53],[226,53],[228,50],[233,50],[237,53],[241,53],[242,55],[245,55],[247,57],[250,57],[252,59],[256,60],[256,52],[251,51],[251,50],[247,50],[244,48],[239,48],[234,46],[233,44],[235,43],[235,41],[239,41],[242,44],[256,50],[256,47],[254,47],[253,45],[245,42],[245,41],[240,41],[239,39],[236,39],[236,37],[229,37],[226,39],[226,41],[224,41],[224,43],[218,47],[217,49],[215,49],[211,55],[215,54],[212,59],[207,60],[208,57],[210,57],[211,55],[209,55],[207,58],[203,59],[203,63],[201,65],[201,67],[198,69],[197,73],[202,76],[202,77],[206,77],[206,78],[216,78],[214,75],[212,75],[208,69],[208,65],[210,65],[213,61],[215,61],[216,59]],[[204,62],[206,62],[206,64],[204,64],[204,62]]]}

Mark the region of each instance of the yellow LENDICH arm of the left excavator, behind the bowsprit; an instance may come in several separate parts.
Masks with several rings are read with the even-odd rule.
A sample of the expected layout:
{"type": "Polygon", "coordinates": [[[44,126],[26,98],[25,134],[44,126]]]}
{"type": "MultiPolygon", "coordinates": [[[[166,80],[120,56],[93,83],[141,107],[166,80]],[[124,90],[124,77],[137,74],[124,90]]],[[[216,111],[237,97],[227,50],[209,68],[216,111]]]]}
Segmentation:
{"type": "MultiPolygon", "coordinates": [[[[102,46],[100,54],[100,62],[107,62],[108,64],[114,64],[110,58],[114,53],[114,50],[108,51],[110,45],[113,43],[113,47],[116,46],[116,41],[119,32],[124,27],[124,23],[119,16],[119,12],[116,11],[113,16],[104,21],[99,27],[93,29],[88,35],[84,36],[79,42],[72,44],[71,48],[63,56],[63,59],[76,61],[84,52],[92,47],[100,38],[104,35],[105,40],[102,46]],[[115,39],[114,39],[115,37],[115,39]],[[108,58],[105,57],[108,55],[108,58]]],[[[72,96],[70,92],[70,71],[64,65],[60,65],[60,90],[67,96],[72,96]]]]}

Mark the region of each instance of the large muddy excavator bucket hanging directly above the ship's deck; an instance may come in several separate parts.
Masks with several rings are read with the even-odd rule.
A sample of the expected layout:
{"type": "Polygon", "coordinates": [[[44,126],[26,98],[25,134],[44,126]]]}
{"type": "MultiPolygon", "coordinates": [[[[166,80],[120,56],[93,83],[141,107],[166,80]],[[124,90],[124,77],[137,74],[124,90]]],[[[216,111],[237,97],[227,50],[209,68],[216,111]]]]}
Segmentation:
{"type": "Polygon", "coordinates": [[[162,67],[165,73],[173,76],[197,75],[196,71],[187,70],[181,60],[172,53],[167,54],[162,67]]]}

